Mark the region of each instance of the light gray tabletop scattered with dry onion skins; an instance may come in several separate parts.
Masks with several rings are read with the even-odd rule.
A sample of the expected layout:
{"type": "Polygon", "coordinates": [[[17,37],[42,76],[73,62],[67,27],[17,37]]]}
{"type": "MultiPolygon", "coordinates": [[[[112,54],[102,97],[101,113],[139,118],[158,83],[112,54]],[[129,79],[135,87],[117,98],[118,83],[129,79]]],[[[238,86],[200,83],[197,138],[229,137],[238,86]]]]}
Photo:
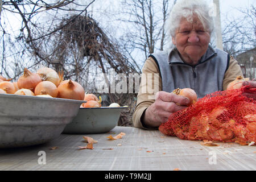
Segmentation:
{"type": "Polygon", "coordinates": [[[200,141],[166,137],[158,130],[116,126],[110,133],[61,134],[48,143],[15,149],[0,149],[0,171],[3,170],[98,170],[98,171],[166,171],[180,170],[255,170],[256,147],[237,143],[202,146],[200,141]],[[109,135],[126,133],[121,139],[109,135]],[[93,150],[83,136],[98,140],[93,150]],[[51,150],[51,147],[59,147],[51,150]],[[45,164],[42,153],[45,154],[45,164]]]}

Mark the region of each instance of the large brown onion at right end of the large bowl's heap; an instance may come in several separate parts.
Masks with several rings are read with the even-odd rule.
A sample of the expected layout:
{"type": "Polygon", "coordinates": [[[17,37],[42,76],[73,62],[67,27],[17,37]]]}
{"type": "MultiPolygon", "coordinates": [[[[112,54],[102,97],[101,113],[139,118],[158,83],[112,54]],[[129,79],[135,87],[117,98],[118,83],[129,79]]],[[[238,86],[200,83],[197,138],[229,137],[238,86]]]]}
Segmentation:
{"type": "Polygon", "coordinates": [[[58,97],[60,98],[84,100],[84,88],[82,88],[82,86],[76,81],[64,80],[60,83],[57,89],[59,91],[58,97]]]}

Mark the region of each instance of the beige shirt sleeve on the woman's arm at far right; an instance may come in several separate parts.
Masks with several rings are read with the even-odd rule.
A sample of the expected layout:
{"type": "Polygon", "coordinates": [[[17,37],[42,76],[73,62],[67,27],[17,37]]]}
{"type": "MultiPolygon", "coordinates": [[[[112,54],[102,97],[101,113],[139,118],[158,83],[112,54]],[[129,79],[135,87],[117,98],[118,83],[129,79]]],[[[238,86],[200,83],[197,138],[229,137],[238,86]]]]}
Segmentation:
{"type": "Polygon", "coordinates": [[[225,73],[224,80],[223,80],[223,90],[226,90],[228,84],[234,80],[236,80],[237,76],[242,76],[242,69],[240,65],[238,65],[237,60],[234,57],[230,56],[229,68],[225,73]]]}

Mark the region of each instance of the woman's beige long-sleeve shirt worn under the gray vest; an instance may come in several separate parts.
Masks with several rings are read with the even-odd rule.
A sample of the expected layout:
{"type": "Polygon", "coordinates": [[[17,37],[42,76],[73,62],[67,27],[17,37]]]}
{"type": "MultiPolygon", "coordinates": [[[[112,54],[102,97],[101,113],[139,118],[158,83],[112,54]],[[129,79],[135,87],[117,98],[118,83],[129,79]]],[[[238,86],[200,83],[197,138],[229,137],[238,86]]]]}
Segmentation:
{"type": "MultiPolygon", "coordinates": [[[[152,73],[152,78],[150,78],[150,83],[152,81],[152,87],[157,88],[156,90],[162,90],[162,78],[160,77],[160,72],[158,66],[156,65],[154,59],[149,57],[142,68],[142,74],[152,73]],[[155,74],[154,74],[155,73],[155,74]],[[157,81],[155,81],[157,80],[157,81]]],[[[229,68],[225,73],[224,80],[223,80],[223,89],[226,90],[228,84],[236,79],[237,76],[243,76],[240,65],[238,65],[237,61],[234,60],[232,56],[230,56],[230,63],[229,68]]],[[[147,78],[148,79],[148,78],[147,78]]],[[[142,129],[148,129],[142,125],[141,118],[144,111],[149,107],[151,104],[155,102],[155,93],[147,93],[142,92],[142,90],[147,90],[147,81],[141,82],[139,93],[137,96],[137,105],[135,107],[133,113],[133,126],[139,127],[142,129]]]]}

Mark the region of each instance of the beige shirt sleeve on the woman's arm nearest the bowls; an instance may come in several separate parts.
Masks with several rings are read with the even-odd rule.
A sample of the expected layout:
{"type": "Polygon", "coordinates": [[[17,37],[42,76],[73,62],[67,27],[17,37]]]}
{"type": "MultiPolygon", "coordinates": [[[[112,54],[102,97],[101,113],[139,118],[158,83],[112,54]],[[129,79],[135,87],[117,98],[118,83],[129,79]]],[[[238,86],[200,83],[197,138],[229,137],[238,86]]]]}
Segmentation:
{"type": "Polygon", "coordinates": [[[143,126],[141,118],[147,107],[155,102],[155,94],[159,90],[162,90],[162,78],[160,77],[159,68],[154,59],[148,57],[142,68],[137,105],[133,113],[134,127],[150,130],[143,126]]]}

